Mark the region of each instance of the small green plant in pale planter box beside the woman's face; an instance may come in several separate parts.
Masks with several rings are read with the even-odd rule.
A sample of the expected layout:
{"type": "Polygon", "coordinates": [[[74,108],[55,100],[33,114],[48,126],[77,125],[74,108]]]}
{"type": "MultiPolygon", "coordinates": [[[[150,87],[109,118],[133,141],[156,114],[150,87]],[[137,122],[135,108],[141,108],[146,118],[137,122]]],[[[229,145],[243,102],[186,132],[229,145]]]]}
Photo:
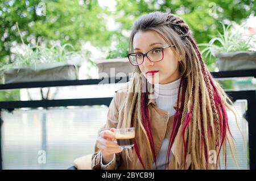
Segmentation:
{"type": "Polygon", "coordinates": [[[128,76],[129,73],[133,73],[133,67],[127,58],[128,47],[128,40],[119,38],[117,46],[108,52],[106,58],[94,61],[98,67],[99,77],[115,77],[118,73],[128,76]]]}

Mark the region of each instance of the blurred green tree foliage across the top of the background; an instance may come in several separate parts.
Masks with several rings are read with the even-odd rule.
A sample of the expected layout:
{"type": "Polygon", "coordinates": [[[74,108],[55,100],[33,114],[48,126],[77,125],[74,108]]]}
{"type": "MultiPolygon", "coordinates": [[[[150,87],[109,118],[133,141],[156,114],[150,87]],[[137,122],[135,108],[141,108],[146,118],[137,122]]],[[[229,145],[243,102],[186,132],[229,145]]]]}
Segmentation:
{"type": "MultiPolygon", "coordinates": [[[[69,43],[76,50],[80,41],[90,41],[97,47],[109,47],[113,35],[126,37],[123,30],[130,31],[134,21],[142,14],[152,11],[172,12],[185,19],[197,43],[208,43],[222,31],[218,22],[237,22],[247,18],[255,10],[255,1],[221,0],[117,0],[116,10],[110,12],[88,0],[33,0],[0,1],[0,62],[11,61],[11,47],[20,44],[15,23],[18,22],[25,44],[42,41],[69,43]],[[44,5],[44,6],[42,6],[44,5]],[[45,7],[45,9],[44,9],[45,7]],[[45,10],[45,11],[44,11],[45,10]],[[120,23],[117,31],[107,28],[108,16],[120,23]]],[[[109,57],[125,57],[125,47],[109,52],[109,57]],[[123,52],[123,53],[122,53],[123,52]]],[[[214,67],[214,58],[204,57],[209,67],[214,67]]]]}

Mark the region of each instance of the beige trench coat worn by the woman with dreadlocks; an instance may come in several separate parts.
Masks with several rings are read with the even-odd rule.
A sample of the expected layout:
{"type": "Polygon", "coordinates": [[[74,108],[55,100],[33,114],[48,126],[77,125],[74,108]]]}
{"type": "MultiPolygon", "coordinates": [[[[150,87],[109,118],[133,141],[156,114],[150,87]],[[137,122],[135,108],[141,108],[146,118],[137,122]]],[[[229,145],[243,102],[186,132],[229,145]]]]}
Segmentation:
{"type": "MultiPolygon", "coordinates": [[[[119,115],[118,112],[123,108],[123,106],[125,106],[124,105],[125,97],[129,89],[129,83],[130,82],[127,82],[125,86],[115,91],[114,97],[109,106],[106,124],[101,129],[117,127],[118,117],[122,116],[122,115],[119,115]]],[[[176,108],[176,103],[174,105],[175,105],[174,108],[176,108]]],[[[154,137],[155,152],[157,155],[162,146],[164,137],[167,137],[167,138],[170,137],[172,125],[174,122],[174,116],[168,116],[168,112],[166,110],[161,110],[157,108],[155,99],[148,100],[148,110],[150,115],[152,136],[154,137]]],[[[92,157],[91,157],[92,158],[91,169],[101,169],[101,166],[100,166],[101,153],[98,150],[97,146],[95,146],[94,149],[95,149],[95,153],[92,154],[92,157]]],[[[177,136],[175,138],[171,151],[172,151],[172,157],[171,157],[171,162],[169,163],[169,169],[183,168],[183,165],[184,165],[183,142],[182,142],[182,136],[181,136],[181,127],[177,132],[177,136]],[[176,163],[175,161],[177,162],[177,164],[175,164],[176,163]]],[[[87,160],[88,160],[88,156],[87,156],[87,160]]],[[[125,151],[122,151],[121,153],[115,154],[114,162],[112,162],[106,169],[110,169],[110,170],[127,169],[126,165],[128,161],[129,159],[126,159],[125,151]]],[[[86,162],[86,156],[80,157],[74,161],[74,165],[77,169],[86,169],[85,162],[86,162]]],[[[141,163],[138,162],[138,164],[141,164],[141,163]]],[[[191,165],[190,154],[187,155],[186,165],[187,165],[186,168],[189,168],[189,166],[191,165]]]]}

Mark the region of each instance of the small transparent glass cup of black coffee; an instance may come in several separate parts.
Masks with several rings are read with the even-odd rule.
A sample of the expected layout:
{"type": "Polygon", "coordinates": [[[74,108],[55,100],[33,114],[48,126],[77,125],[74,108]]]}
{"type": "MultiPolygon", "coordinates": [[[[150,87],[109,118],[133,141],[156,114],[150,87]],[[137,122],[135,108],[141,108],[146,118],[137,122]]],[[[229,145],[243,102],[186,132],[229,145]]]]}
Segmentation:
{"type": "Polygon", "coordinates": [[[115,139],[119,147],[129,149],[134,146],[135,128],[117,128],[114,130],[115,139]]]}

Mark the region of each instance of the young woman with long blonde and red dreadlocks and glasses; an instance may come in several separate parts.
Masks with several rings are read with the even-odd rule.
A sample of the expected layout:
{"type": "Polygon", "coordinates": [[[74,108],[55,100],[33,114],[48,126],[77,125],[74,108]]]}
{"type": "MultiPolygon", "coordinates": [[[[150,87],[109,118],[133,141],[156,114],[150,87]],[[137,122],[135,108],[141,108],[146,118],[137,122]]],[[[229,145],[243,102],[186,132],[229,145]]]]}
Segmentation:
{"type": "Polygon", "coordinates": [[[143,15],[130,52],[134,75],[110,103],[92,169],[218,169],[227,145],[233,155],[226,113],[232,101],[210,75],[188,25],[170,13],[143,15]],[[136,128],[135,145],[123,150],[113,130],[126,127],[136,128]]]}

